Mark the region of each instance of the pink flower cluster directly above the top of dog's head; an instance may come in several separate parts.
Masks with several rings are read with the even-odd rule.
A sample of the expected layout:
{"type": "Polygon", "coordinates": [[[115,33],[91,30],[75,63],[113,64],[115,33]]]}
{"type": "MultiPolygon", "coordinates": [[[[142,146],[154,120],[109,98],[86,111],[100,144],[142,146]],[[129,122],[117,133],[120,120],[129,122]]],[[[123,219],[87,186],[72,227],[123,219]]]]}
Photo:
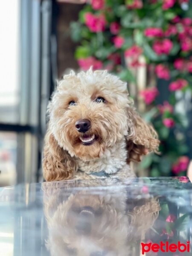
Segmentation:
{"type": "Polygon", "coordinates": [[[88,58],[80,58],[78,60],[78,64],[82,70],[88,70],[91,66],[93,66],[93,70],[98,70],[101,69],[103,66],[102,61],[99,61],[92,56],[88,58]]]}

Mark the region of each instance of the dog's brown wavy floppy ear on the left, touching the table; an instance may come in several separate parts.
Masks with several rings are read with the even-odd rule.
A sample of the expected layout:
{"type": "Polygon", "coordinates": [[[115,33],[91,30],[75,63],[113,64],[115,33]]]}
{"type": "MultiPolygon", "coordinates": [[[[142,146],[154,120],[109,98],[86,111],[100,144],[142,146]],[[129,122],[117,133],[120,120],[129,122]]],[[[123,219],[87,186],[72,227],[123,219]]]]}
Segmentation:
{"type": "Polygon", "coordinates": [[[46,181],[68,180],[77,169],[76,161],[61,148],[53,134],[47,131],[44,145],[43,172],[46,181]]]}

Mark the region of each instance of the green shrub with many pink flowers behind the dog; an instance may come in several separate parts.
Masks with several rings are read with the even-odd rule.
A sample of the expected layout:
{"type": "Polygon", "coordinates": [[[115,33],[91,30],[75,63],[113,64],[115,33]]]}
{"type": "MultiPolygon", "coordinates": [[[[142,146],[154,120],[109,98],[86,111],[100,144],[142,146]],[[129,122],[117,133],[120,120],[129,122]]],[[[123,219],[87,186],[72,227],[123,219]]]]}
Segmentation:
{"type": "Polygon", "coordinates": [[[71,24],[72,38],[80,42],[75,56],[82,70],[108,69],[137,87],[134,71],[143,67],[146,73],[153,70],[156,81],[169,84],[162,84],[170,92],[162,105],[156,103],[160,92],[150,76],[137,95],[161,140],[161,154],[147,155],[141,164],[151,176],[184,176],[189,162],[182,132],[186,123],[175,111],[175,93],[192,89],[191,11],[189,0],[91,0],[71,24]]]}

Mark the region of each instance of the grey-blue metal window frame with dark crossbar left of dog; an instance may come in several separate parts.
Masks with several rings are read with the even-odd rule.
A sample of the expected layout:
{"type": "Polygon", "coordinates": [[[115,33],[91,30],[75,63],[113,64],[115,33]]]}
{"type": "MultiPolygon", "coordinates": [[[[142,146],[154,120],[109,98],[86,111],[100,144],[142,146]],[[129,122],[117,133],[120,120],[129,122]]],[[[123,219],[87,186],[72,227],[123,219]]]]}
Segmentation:
{"type": "MultiPolygon", "coordinates": [[[[53,1],[54,2],[54,1],[53,1]]],[[[0,131],[17,133],[17,183],[41,181],[51,75],[52,0],[20,0],[20,115],[0,131]]]]}

